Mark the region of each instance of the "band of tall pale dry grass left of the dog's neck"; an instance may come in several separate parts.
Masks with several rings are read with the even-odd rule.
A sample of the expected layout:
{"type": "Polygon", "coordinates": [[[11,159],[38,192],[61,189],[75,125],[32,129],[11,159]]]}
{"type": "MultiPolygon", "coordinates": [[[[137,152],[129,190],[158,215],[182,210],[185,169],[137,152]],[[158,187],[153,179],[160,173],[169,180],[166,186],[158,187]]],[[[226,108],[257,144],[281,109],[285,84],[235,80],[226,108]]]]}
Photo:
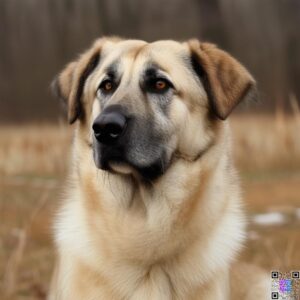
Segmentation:
{"type": "Polygon", "coordinates": [[[71,144],[67,125],[0,128],[0,175],[61,174],[71,144]]]}

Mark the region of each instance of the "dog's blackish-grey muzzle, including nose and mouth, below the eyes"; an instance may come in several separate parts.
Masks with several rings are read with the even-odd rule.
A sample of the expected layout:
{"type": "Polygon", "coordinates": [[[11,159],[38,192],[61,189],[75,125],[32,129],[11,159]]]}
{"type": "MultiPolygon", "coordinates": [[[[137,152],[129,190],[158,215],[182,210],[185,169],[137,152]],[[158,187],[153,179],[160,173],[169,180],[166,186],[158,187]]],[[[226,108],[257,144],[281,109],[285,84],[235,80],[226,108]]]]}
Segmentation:
{"type": "MultiPolygon", "coordinates": [[[[152,147],[155,137],[121,105],[111,105],[93,123],[94,161],[98,168],[116,173],[139,174],[153,180],[163,174],[166,153],[152,147]],[[142,163],[141,163],[142,161],[142,163]],[[146,163],[145,163],[146,161],[146,163]],[[148,163],[147,163],[148,161],[148,163]]],[[[161,143],[157,142],[154,145],[161,143]]]]}

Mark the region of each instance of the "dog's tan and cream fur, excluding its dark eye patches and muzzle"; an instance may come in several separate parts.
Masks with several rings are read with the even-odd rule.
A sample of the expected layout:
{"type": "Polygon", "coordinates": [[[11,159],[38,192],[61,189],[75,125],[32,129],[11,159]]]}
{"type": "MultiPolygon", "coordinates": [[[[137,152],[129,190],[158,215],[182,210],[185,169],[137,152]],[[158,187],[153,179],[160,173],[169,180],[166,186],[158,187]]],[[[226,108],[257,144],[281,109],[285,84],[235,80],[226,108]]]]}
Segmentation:
{"type": "MultiPolygon", "coordinates": [[[[101,39],[58,77],[69,119],[78,118],[76,101],[85,117],[76,124],[70,185],[55,222],[59,258],[50,300],[228,300],[256,286],[263,293],[265,286],[255,281],[250,287],[230,286],[236,274],[232,263],[245,239],[230,129],[212,116],[201,81],[180,60],[191,53],[204,63],[216,113],[225,118],[254,81],[236,60],[209,44],[101,39]],[[97,52],[101,64],[76,98],[81,75],[97,52]],[[141,184],[130,168],[132,176],[97,169],[91,155],[91,125],[101,109],[96,89],[116,58],[127,73],[112,103],[123,99],[137,114],[155,113],[152,103],[143,106],[138,97],[127,96],[131,90],[138,94],[139,66],[149,57],[161,62],[177,90],[169,112],[172,162],[151,186],[141,184]]],[[[254,299],[264,298],[247,298],[254,299]]]]}

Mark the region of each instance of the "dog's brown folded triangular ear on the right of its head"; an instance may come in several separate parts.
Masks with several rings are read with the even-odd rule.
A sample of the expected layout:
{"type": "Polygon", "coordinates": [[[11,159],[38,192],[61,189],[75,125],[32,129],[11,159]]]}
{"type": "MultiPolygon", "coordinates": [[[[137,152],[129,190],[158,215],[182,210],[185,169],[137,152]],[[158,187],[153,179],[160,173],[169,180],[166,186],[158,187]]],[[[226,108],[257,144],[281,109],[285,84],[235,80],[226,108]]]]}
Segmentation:
{"type": "Polygon", "coordinates": [[[234,107],[255,92],[255,81],[231,55],[209,43],[188,41],[191,62],[200,78],[213,113],[225,120],[234,107]]]}

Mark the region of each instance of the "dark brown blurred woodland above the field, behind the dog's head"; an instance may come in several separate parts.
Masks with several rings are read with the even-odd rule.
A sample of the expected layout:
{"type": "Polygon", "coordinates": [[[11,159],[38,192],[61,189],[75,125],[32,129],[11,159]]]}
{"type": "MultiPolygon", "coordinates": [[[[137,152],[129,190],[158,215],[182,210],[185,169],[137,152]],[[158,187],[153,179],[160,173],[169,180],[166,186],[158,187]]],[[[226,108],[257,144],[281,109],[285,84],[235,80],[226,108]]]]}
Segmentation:
{"type": "Polygon", "coordinates": [[[0,0],[0,122],[57,120],[49,84],[101,35],[219,44],[257,78],[262,102],[300,98],[298,0],[0,0]]]}

